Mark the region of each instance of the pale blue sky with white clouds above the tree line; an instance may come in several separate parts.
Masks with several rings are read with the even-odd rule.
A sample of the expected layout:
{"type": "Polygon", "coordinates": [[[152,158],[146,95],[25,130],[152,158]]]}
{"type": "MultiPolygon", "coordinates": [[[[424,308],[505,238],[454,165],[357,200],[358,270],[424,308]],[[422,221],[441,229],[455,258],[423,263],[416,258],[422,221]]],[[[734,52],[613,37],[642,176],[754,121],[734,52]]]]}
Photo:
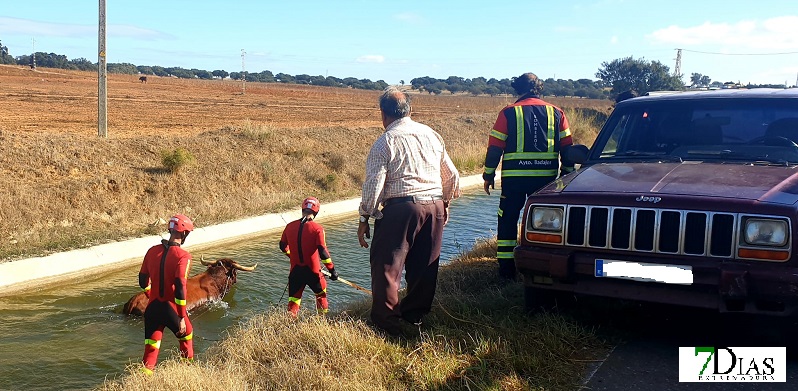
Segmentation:
{"type": "MultiPolygon", "coordinates": [[[[798,78],[792,0],[107,0],[108,62],[400,80],[596,79],[633,56],[682,52],[717,81],[798,78]]],[[[98,0],[0,0],[0,42],[97,62],[98,0]]]]}

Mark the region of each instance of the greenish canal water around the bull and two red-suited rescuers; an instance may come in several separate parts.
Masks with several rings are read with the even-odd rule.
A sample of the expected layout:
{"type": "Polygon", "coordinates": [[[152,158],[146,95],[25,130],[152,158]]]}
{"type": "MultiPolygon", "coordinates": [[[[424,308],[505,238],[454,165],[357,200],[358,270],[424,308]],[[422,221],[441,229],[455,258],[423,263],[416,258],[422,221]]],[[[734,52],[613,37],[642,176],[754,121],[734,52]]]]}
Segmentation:
{"type": "MultiPolygon", "coordinates": [[[[488,196],[472,189],[452,203],[442,264],[468,251],[477,239],[495,234],[498,202],[498,191],[488,196]]],[[[368,249],[358,244],[356,219],[321,223],[341,277],[370,287],[368,249]]],[[[193,252],[195,259],[204,255],[206,260],[227,257],[243,265],[258,264],[251,273],[239,272],[238,284],[224,301],[191,312],[197,359],[232,326],[273,306],[287,305],[289,264],[278,249],[279,239],[277,232],[193,252]]],[[[138,268],[132,265],[91,279],[0,297],[0,390],[90,389],[139,362],[144,352],[143,321],[121,314],[124,303],[138,292],[138,268]]],[[[190,274],[203,269],[193,262],[190,274]]],[[[309,314],[315,309],[308,292],[302,308],[309,314]]],[[[328,281],[328,295],[333,311],[367,297],[335,281],[328,281]]],[[[172,356],[176,349],[174,335],[167,330],[159,359],[172,356]]]]}

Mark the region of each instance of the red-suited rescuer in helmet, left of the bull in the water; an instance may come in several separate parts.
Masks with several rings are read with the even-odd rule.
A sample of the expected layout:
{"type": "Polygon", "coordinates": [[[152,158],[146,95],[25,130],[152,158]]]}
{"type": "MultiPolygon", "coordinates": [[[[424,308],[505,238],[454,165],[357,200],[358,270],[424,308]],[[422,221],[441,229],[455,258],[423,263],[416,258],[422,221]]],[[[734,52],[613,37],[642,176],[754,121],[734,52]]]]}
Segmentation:
{"type": "Polygon", "coordinates": [[[168,327],[180,341],[180,356],[194,358],[193,327],[186,311],[186,279],[191,254],[180,247],[194,223],[182,215],[169,219],[169,240],[151,247],[139,271],[139,286],[149,297],[144,311],[144,368],[152,374],[158,361],[163,330],[168,327]]]}

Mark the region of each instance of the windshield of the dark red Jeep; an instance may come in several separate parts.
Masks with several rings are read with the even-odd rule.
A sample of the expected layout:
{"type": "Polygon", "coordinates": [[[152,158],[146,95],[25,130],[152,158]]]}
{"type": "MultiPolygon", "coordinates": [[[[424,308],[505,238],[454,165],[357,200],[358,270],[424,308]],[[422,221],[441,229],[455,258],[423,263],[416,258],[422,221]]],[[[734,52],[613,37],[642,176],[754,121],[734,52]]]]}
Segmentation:
{"type": "Polygon", "coordinates": [[[590,160],[798,164],[798,100],[675,95],[619,104],[590,160]]]}

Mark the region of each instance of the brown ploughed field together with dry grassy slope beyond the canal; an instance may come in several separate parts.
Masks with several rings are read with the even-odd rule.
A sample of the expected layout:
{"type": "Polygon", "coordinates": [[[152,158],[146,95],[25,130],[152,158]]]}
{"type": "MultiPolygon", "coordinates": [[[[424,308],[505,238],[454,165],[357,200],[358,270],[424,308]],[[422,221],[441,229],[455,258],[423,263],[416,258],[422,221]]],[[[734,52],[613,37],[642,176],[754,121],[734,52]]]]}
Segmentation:
{"type": "MultiPolygon", "coordinates": [[[[383,131],[378,91],[111,74],[108,138],[97,75],[0,66],[0,261],[359,194],[383,131]],[[176,169],[164,155],[179,152],[176,169]]],[[[512,97],[414,95],[458,167],[481,169],[487,133],[512,97]]],[[[609,101],[550,99],[589,144],[609,101]],[[581,110],[587,109],[587,110],[581,110]]]]}

